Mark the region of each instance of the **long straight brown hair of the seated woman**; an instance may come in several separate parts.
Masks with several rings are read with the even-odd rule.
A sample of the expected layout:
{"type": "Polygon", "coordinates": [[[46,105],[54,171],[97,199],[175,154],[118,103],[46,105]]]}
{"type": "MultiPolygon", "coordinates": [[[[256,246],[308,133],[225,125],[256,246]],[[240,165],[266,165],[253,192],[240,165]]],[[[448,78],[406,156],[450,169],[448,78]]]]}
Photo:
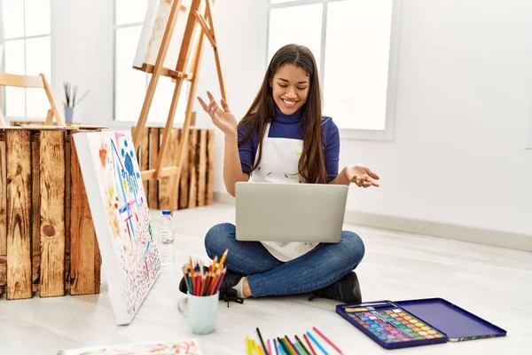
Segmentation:
{"type": "Polygon", "coordinates": [[[239,128],[246,129],[244,137],[239,141],[239,146],[251,138],[256,132],[259,133],[260,145],[259,156],[256,159],[254,171],[262,159],[262,138],[267,123],[275,117],[275,101],[273,100],[270,82],[277,73],[278,68],[285,64],[293,64],[301,67],[309,75],[309,95],[307,101],[301,106],[301,129],[303,131],[303,151],[298,164],[298,170],[306,183],[325,184],[325,157],[322,136],[322,99],[317,76],[317,65],[314,55],[309,48],[303,45],[287,44],[281,47],[270,60],[268,70],[264,75],[261,89],[253,103],[240,120],[239,128]]]}

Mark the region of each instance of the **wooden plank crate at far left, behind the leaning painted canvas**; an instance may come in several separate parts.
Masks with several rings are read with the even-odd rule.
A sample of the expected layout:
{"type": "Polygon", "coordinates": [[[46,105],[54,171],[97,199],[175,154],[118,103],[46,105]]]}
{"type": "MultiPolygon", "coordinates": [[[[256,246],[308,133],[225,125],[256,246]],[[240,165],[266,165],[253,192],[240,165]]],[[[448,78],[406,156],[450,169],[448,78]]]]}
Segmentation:
{"type": "Polygon", "coordinates": [[[99,293],[101,259],[72,140],[77,131],[0,128],[0,296],[99,293]]]}

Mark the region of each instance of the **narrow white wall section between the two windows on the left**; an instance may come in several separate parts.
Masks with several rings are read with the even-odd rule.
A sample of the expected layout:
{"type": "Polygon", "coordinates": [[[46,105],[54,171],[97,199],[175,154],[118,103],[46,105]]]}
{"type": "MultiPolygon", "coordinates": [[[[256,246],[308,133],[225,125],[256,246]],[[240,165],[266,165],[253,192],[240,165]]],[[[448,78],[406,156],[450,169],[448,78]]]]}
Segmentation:
{"type": "Polygon", "coordinates": [[[74,120],[113,126],[113,1],[51,0],[51,85],[56,98],[64,96],[64,81],[77,84],[80,94],[90,91],[76,106],[74,120]]]}

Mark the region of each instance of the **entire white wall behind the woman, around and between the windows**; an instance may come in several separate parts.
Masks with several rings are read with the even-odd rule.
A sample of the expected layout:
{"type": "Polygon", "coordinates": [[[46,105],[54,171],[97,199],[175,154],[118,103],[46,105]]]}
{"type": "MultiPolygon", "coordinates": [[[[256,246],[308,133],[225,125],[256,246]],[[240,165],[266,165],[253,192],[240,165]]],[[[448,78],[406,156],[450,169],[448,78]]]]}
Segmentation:
{"type": "MultiPolygon", "coordinates": [[[[52,81],[58,93],[63,80],[90,89],[76,112],[82,122],[129,128],[112,116],[112,3],[52,0],[52,81]]],[[[528,0],[403,0],[395,139],[342,139],[341,165],[361,162],[382,177],[379,189],[352,187],[348,209],[532,235],[530,18],[528,0]]],[[[266,21],[265,0],[216,5],[238,117],[264,74],[266,21]]],[[[212,58],[208,46],[199,93],[219,98],[212,58]]],[[[212,126],[201,111],[198,125],[212,126]]],[[[224,192],[216,139],[215,191],[224,192]]]]}

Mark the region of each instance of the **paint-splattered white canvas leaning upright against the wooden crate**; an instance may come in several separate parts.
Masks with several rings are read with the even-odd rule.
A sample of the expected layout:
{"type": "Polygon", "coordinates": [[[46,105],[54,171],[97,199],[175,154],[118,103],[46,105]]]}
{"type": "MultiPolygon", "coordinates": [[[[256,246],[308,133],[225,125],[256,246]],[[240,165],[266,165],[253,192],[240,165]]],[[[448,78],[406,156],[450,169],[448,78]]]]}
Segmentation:
{"type": "Polygon", "coordinates": [[[73,135],[116,322],[129,324],[160,274],[129,131],[73,135]]]}

